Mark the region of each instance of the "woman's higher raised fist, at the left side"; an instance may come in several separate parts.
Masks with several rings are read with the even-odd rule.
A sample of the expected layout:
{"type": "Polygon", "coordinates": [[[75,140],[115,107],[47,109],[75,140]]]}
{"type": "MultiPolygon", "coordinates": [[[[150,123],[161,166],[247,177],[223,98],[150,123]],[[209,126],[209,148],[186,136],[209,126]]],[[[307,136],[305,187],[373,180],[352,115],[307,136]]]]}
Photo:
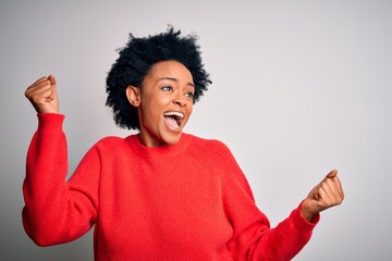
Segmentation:
{"type": "Polygon", "coordinates": [[[41,77],[25,91],[37,113],[59,113],[59,98],[53,75],[41,77]]]}

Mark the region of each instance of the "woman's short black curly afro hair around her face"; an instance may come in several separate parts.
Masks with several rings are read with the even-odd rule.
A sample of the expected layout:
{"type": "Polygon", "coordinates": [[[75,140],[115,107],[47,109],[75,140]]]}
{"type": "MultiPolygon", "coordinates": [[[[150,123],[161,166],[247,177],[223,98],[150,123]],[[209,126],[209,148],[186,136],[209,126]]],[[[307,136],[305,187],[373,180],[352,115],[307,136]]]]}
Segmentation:
{"type": "Polygon", "coordinates": [[[125,95],[128,86],[142,88],[145,76],[152,65],[161,61],[177,61],[189,70],[195,84],[194,103],[199,100],[212,82],[204,70],[199,46],[195,35],[181,36],[181,30],[169,26],[166,33],[136,38],[130,34],[127,45],[119,50],[120,57],[112,65],[108,77],[106,104],[113,110],[117,125],[139,129],[137,109],[125,95]]]}

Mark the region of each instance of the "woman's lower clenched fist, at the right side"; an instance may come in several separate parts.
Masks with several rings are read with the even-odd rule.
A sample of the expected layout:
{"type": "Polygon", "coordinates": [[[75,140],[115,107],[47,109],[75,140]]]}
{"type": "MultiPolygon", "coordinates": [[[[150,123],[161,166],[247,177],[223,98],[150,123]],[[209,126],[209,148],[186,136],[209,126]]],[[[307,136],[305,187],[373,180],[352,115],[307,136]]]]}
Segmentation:
{"type": "Polygon", "coordinates": [[[344,192],[338,177],[338,171],[333,170],[311,189],[302,202],[302,214],[307,221],[311,221],[317,213],[341,204],[343,199],[344,192]]]}

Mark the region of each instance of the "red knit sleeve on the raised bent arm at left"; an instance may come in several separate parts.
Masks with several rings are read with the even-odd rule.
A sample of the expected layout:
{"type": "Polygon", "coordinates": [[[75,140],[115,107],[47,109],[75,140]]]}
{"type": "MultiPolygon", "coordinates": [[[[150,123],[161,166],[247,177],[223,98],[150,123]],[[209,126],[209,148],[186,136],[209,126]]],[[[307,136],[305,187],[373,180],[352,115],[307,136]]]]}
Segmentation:
{"type": "Polygon", "coordinates": [[[97,215],[98,152],[91,149],[78,166],[78,172],[95,173],[86,173],[84,176],[89,178],[82,178],[75,185],[68,183],[63,120],[60,114],[38,114],[38,129],[27,152],[23,225],[39,246],[81,237],[93,226],[97,215]]]}

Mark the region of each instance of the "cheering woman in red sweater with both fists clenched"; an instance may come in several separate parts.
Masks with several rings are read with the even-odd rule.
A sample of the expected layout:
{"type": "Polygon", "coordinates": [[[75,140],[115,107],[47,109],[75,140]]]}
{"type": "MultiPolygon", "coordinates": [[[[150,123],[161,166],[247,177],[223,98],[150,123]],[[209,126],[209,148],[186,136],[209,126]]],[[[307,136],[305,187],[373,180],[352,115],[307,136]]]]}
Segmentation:
{"type": "Polygon", "coordinates": [[[25,96],[38,113],[27,153],[23,224],[39,246],[74,240],[95,226],[96,260],[290,260],[319,212],[340,204],[330,172],[290,216],[270,228],[230,150],[183,133],[210,84],[195,36],[135,38],[107,78],[107,105],[125,138],[106,137],[70,181],[64,115],[53,75],[25,96]]]}

